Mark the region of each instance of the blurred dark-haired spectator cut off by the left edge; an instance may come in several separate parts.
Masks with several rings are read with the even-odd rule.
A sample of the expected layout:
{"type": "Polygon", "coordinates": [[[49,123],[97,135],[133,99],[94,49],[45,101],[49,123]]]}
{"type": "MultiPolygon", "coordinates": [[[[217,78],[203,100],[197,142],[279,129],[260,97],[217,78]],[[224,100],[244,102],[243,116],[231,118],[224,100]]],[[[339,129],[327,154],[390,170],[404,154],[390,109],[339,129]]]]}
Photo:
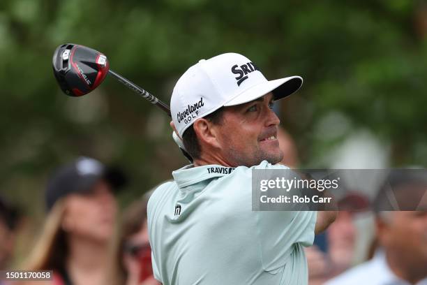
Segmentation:
{"type": "Polygon", "coordinates": [[[19,220],[17,207],[0,197],[0,270],[8,268],[8,263],[12,259],[19,220]]]}

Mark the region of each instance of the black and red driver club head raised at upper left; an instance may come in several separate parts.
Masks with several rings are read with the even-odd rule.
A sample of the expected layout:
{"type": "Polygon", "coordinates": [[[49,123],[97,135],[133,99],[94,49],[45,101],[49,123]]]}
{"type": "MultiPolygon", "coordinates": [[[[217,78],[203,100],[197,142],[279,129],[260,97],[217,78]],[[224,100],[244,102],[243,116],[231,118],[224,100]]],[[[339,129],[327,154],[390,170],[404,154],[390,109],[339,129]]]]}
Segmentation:
{"type": "Polygon", "coordinates": [[[82,96],[105,79],[110,64],[104,54],[83,45],[59,45],[53,56],[55,78],[68,96],[82,96]]]}

